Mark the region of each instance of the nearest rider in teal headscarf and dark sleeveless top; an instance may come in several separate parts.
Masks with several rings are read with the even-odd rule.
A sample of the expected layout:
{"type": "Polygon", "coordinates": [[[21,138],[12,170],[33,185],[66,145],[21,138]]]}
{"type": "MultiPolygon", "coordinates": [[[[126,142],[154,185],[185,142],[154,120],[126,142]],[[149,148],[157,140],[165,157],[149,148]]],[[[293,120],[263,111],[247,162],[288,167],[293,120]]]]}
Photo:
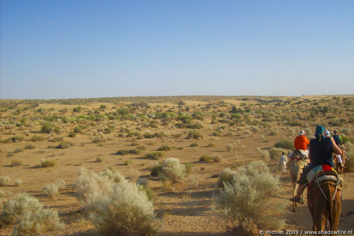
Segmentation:
{"type": "Polygon", "coordinates": [[[325,137],[325,127],[322,125],[316,126],[315,139],[310,141],[309,145],[309,159],[310,163],[303,169],[300,180],[298,181],[299,187],[296,196],[290,198],[291,201],[300,203],[300,196],[307,186],[307,174],[317,165],[326,164],[334,167],[332,152],[342,154],[342,150],[337,146],[332,137],[325,137]]]}

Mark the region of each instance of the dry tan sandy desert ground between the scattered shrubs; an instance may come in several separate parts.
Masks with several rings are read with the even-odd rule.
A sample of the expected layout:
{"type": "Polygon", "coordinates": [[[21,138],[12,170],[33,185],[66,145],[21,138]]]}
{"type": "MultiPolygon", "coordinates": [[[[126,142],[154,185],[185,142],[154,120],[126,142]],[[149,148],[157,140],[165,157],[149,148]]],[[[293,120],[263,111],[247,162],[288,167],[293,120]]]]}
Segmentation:
{"type": "MultiPolygon", "coordinates": [[[[116,112],[117,109],[128,108],[132,102],[120,103],[89,103],[81,106],[81,112],[73,112],[73,108],[78,105],[62,105],[62,104],[19,104],[13,107],[13,110],[5,109],[1,114],[1,140],[4,141],[14,136],[23,137],[21,142],[1,143],[1,161],[0,176],[9,176],[11,181],[8,186],[0,187],[1,190],[7,192],[6,199],[21,192],[27,192],[38,198],[40,202],[49,208],[58,211],[60,219],[65,223],[65,227],[54,232],[45,232],[41,235],[97,235],[97,231],[87,219],[79,200],[75,197],[74,183],[78,177],[80,167],[85,167],[95,172],[105,170],[110,166],[116,167],[123,175],[135,181],[137,178],[148,179],[148,186],[155,194],[154,207],[157,213],[157,219],[161,222],[160,235],[234,235],[235,232],[230,229],[221,215],[210,208],[213,202],[213,196],[220,191],[216,186],[217,179],[211,178],[213,174],[221,173],[224,168],[230,167],[236,170],[239,165],[246,165],[255,160],[260,159],[257,148],[268,149],[274,146],[276,142],[282,140],[293,140],[300,129],[307,132],[308,137],[313,136],[315,124],[328,124],[331,119],[345,119],[343,126],[328,126],[332,132],[333,129],[339,130],[343,128],[352,129],[352,123],[348,123],[353,115],[352,104],[345,105],[343,97],[353,102],[353,96],[337,96],[333,99],[329,96],[307,96],[307,97],[287,97],[276,99],[292,100],[291,103],[271,103],[261,104],[259,100],[244,99],[221,99],[214,101],[196,101],[191,98],[184,100],[184,105],[178,106],[177,102],[168,103],[148,103],[150,107],[137,107],[131,114],[151,114],[153,112],[169,111],[176,114],[184,112],[193,114],[195,111],[203,112],[203,120],[198,122],[203,127],[198,131],[202,134],[202,140],[186,139],[190,128],[176,128],[175,124],[179,121],[172,120],[162,125],[162,120],[157,121],[157,127],[145,127],[146,122],[141,119],[133,120],[97,120],[88,121],[86,119],[77,118],[79,115],[88,113],[108,114],[116,112]],[[309,102],[308,102],[309,101],[309,102]],[[337,101],[335,103],[334,101],[337,101]],[[298,102],[301,102],[297,104],[298,102]],[[313,105],[318,102],[319,105],[313,105]],[[99,110],[100,106],[106,108],[99,110]],[[208,105],[208,108],[206,107],[208,105]],[[240,122],[235,122],[231,126],[225,122],[229,119],[229,111],[232,105],[237,108],[250,109],[249,118],[242,118],[240,122]],[[247,107],[248,106],[248,107],[247,107]],[[331,106],[325,116],[319,113],[314,118],[306,118],[309,115],[311,107],[331,106]],[[28,107],[29,109],[23,110],[28,107]],[[64,110],[66,108],[66,110],[64,110]],[[337,108],[337,110],[333,110],[337,108]],[[16,112],[16,109],[20,111],[16,112]],[[21,110],[22,109],[22,110],[21,110]],[[226,113],[221,116],[220,113],[226,113]],[[300,113],[300,114],[297,114],[300,113]],[[212,122],[212,114],[217,114],[218,123],[212,122]],[[46,116],[52,117],[57,115],[60,121],[54,120],[53,126],[58,125],[60,130],[52,133],[42,133],[41,124],[37,120],[43,121],[46,116]],[[290,117],[301,123],[300,126],[291,126],[284,122],[284,116],[290,117]],[[24,125],[17,124],[21,118],[25,117],[24,125]],[[74,117],[72,123],[64,123],[64,117],[74,117]],[[264,118],[270,118],[269,121],[262,121],[264,118]],[[303,119],[302,119],[303,118],[303,119]],[[258,120],[259,123],[252,124],[252,121],[258,120]],[[87,126],[81,133],[77,133],[75,138],[69,138],[70,132],[74,128],[82,124],[87,126]],[[102,125],[113,125],[114,129],[111,133],[99,132],[102,125]],[[225,126],[225,127],[222,127],[225,126]],[[258,130],[253,127],[257,127],[258,130]],[[221,129],[220,129],[221,128],[221,129]],[[146,150],[138,155],[116,155],[120,149],[135,148],[131,145],[133,138],[127,138],[126,135],[131,131],[137,131],[144,134],[147,130],[154,132],[164,132],[166,137],[162,138],[144,138],[136,140],[140,145],[146,146],[146,150]],[[213,132],[219,130],[220,136],[213,136],[213,132]],[[252,136],[244,137],[244,130],[250,130],[252,136]],[[123,134],[123,135],[122,135],[123,134]],[[180,134],[176,136],[173,134],[180,134]],[[44,141],[32,142],[30,139],[34,136],[42,136],[44,141]],[[71,141],[75,146],[67,149],[58,149],[56,146],[60,142],[50,142],[55,137],[63,137],[64,141],[71,141]],[[93,143],[93,138],[101,137],[105,142],[93,143]],[[191,147],[192,143],[197,143],[198,147],[191,147]],[[208,147],[209,143],[215,143],[215,147],[208,147]],[[235,148],[228,151],[226,146],[234,144],[235,148]],[[34,149],[25,149],[27,144],[35,146],[34,149]],[[187,177],[179,184],[174,186],[171,191],[165,191],[161,188],[161,181],[156,177],[150,177],[148,166],[156,160],[143,158],[148,151],[156,151],[161,145],[173,146],[174,149],[166,151],[166,157],[176,157],[182,163],[192,163],[191,177],[187,177]],[[16,149],[21,149],[16,152],[16,149]],[[222,155],[221,162],[202,162],[199,158],[202,155],[211,155],[213,153],[222,155]],[[96,158],[103,158],[102,162],[97,162],[96,158]],[[56,162],[53,167],[39,167],[40,160],[54,160],[56,162]],[[132,164],[125,165],[126,160],[132,160],[132,164]],[[20,166],[12,166],[13,160],[22,162],[20,166]],[[16,179],[20,179],[23,183],[19,186],[14,184],[16,179]],[[54,183],[55,180],[64,180],[65,187],[59,192],[55,200],[50,200],[42,188],[45,185],[54,183]]],[[[262,99],[267,99],[264,97],[262,99]]],[[[346,100],[346,101],[347,101],[346,100]]],[[[1,102],[1,101],[0,101],[1,102]]],[[[4,101],[3,101],[4,102],[4,101]]],[[[8,101],[6,101],[8,102],[8,101]]],[[[130,107],[131,109],[131,107],[130,107]]],[[[149,124],[149,123],[147,123],[149,124]]],[[[347,137],[352,137],[350,131],[347,137]]],[[[162,162],[162,159],[158,160],[162,162]]],[[[265,160],[275,175],[280,176],[277,170],[278,159],[265,160]]],[[[354,172],[345,172],[343,174],[344,188],[342,200],[342,211],[339,222],[340,230],[354,229],[354,172]]],[[[288,201],[292,194],[289,171],[286,175],[280,176],[282,185],[282,195],[279,197],[288,201]]],[[[307,204],[307,201],[306,203],[307,204]]],[[[297,213],[291,212],[291,202],[289,201],[286,216],[286,230],[310,230],[312,220],[307,205],[299,205],[297,213]]],[[[0,235],[11,235],[12,226],[0,229],[0,235]]]]}

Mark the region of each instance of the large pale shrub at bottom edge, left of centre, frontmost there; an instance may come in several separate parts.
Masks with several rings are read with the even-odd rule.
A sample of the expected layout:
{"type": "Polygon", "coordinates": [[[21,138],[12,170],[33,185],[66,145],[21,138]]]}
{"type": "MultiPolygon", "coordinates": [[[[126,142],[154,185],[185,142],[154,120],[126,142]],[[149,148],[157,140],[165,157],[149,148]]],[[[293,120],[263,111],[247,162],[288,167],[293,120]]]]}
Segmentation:
{"type": "Polygon", "coordinates": [[[109,191],[94,191],[83,205],[102,235],[157,235],[152,201],[146,191],[127,180],[109,191]]]}

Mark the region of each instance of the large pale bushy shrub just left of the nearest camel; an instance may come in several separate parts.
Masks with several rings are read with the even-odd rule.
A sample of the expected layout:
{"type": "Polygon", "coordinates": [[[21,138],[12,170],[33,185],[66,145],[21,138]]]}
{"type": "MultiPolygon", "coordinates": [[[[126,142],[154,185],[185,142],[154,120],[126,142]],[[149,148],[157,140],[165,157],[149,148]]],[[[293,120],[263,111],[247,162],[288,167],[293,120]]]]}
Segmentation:
{"type": "Polygon", "coordinates": [[[279,229],[285,225],[287,205],[278,198],[280,192],[279,177],[273,176],[264,162],[254,162],[237,169],[216,203],[226,219],[243,225],[246,232],[252,231],[255,225],[279,229]]]}

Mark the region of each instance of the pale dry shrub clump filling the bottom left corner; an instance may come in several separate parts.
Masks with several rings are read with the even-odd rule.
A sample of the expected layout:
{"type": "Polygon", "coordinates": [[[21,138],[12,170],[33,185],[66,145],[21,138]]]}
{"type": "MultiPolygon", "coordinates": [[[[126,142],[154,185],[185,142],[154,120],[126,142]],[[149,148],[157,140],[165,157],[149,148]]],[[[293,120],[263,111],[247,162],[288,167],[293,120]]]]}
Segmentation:
{"type": "Polygon", "coordinates": [[[12,235],[39,234],[63,227],[58,213],[43,208],[38,199],[21,193],[4,204],[1,220],[4,224],[15,224],[12,235]]]}

